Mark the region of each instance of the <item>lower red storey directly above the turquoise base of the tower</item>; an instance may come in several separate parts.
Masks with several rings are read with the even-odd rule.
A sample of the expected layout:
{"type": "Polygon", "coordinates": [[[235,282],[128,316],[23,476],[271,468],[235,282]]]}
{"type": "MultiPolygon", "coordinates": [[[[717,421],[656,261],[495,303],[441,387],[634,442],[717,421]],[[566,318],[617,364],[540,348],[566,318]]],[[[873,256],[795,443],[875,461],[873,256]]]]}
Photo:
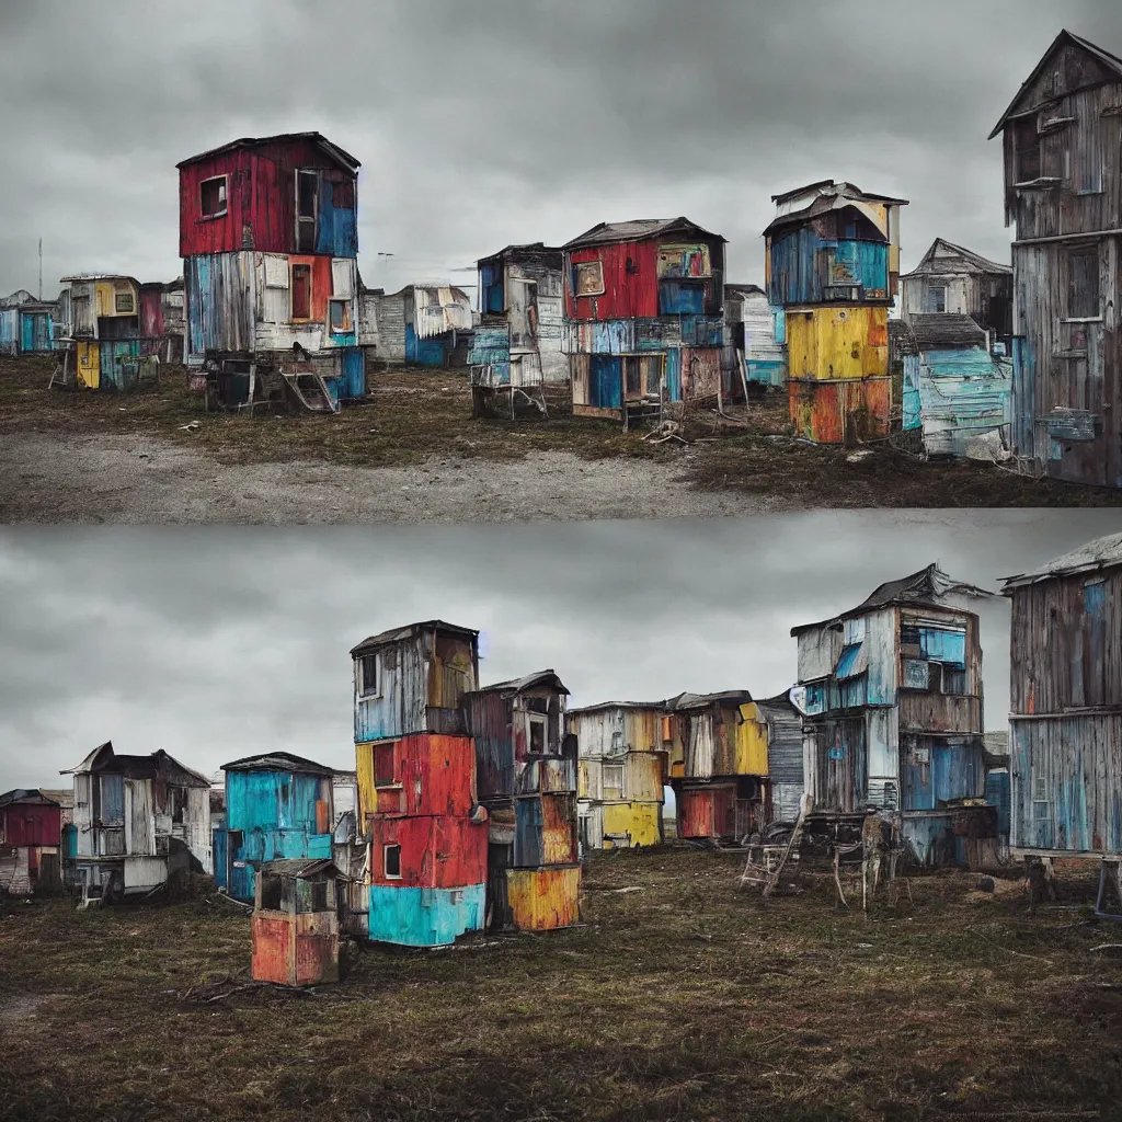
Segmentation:
{"type": "Polygon", "coordinates": [[[487,880],[488,825],[447,815],[376,818],[371,880],[422,889],[462,889],[487,880]],[[401,877],[386,876],[383,847],[399,845],[401,877]]]}

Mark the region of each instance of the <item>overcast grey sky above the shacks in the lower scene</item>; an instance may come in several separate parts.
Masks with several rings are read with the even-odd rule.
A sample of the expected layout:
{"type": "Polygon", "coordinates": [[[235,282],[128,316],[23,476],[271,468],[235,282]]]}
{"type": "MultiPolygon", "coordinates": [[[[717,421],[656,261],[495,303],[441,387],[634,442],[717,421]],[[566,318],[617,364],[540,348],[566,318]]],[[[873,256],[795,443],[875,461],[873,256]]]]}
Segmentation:
{"type": "MultiPolygon", "coordinates": [[[[792,626],[932,561],[996,590],[1122,528],[1111,511],[819,513],[272,531],[0,532],[0,791],[105,739],[214,772],[268,748],[353,766],[349,650],[434,617],[484,633],[485,683],[553,668],[572,706],[785,690],[792,626]]],[[[1008,712],[986,603],[987,725],[1008,712]]]]}

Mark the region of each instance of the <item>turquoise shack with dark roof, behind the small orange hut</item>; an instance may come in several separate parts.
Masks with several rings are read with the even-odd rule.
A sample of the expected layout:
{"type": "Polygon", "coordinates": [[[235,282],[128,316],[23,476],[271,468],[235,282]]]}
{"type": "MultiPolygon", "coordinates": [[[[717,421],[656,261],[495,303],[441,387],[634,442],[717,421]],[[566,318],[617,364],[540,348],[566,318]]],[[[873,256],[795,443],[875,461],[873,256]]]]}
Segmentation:
{"type": "Polygon", "coordinates": [[[226,828],[214,831],[214,883],[254,901],[254,881],[272,861],[325,859],[335,825],[331,767],[288,752],[223,764],[226,828]]]}

